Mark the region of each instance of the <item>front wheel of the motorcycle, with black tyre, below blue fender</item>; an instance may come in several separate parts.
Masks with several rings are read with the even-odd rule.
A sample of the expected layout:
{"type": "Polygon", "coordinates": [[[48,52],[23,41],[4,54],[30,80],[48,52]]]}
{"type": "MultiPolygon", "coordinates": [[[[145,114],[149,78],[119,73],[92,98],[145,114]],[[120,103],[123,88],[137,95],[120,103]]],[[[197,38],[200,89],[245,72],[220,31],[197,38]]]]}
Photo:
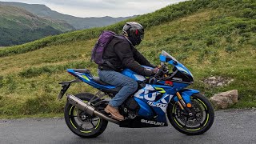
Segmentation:
{"type": "Polygon", "coordinates": [[[167,108],[167,117],[171,125],[183,134],[203,134],[214,123],[214,108],[202,94],[193,94],[190,100],[192,116],[181,110],[177,102],[170,102],[167,108]]]}

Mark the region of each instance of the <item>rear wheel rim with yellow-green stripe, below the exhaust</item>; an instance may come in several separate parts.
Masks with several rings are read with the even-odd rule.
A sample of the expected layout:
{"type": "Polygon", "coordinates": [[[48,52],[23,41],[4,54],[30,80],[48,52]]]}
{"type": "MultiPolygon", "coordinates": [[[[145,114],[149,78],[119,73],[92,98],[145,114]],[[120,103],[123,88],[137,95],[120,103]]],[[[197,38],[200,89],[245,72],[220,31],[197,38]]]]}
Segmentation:
{"type": "Polygon", "coordinates": [[[75,106],[70,106],[69,118],[74,129],[79,130],[81,133],[94,132],[102,122],[101,118],[90,116],[86,112],[78,110],[75,106]]]}

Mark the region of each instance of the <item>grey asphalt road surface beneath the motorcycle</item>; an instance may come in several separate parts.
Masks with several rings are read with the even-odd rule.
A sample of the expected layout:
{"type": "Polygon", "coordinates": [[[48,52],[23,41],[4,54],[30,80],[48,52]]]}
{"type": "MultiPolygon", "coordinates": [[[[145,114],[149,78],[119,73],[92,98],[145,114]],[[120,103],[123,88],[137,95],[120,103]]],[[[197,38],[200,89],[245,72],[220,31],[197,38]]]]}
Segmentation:
{"type": "Polygon", "coordinates": [[[159,128],[120,128],[110,123],[98,138],[79,138],[63,118],[0,120],[0,144],[8,143],[251,143],[256,144],[256,110],[215,112],[214,125],[205,134],[187,136],[172,126],[159,128]]]}

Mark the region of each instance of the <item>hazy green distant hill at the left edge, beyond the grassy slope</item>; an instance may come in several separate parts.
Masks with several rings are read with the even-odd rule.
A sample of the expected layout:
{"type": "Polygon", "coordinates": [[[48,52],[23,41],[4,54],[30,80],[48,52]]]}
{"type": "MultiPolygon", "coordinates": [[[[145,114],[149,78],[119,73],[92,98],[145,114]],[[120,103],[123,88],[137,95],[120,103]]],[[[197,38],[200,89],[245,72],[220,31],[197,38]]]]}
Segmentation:
{"type": "Polygon", "coordinates": [[[18,45],[74,30],[66,22],[40,18],[14,6],[0,5],[0,46],[18,45]]]}

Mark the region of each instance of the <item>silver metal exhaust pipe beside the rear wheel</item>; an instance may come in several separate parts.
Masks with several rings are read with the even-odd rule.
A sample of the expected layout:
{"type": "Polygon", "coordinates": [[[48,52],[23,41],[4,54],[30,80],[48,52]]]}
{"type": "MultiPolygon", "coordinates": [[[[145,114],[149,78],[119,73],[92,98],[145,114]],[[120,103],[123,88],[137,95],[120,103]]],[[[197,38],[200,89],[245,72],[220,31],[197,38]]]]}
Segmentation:
{"type": "Polygon", "coordinates": [[[68,102],[70,102],[70,104],[78,107],[78,109],[80,109],[80,110],[85,110],[87,114],[96,115],[99,118],[103,118],[103,119],[105,119],[107,121],[119,124],[118,120],[115,120],[113,118],[109,118],[106,115],[98,112],[97,110],[95,110],[95,108],[93,106],[90,106],[90,105],[86,104],[85,102],[82,102],[81,99],[75,97],[74,95],[66,94],[66,96],[67,96],[67,100],[68,100],[68,102]]]}

